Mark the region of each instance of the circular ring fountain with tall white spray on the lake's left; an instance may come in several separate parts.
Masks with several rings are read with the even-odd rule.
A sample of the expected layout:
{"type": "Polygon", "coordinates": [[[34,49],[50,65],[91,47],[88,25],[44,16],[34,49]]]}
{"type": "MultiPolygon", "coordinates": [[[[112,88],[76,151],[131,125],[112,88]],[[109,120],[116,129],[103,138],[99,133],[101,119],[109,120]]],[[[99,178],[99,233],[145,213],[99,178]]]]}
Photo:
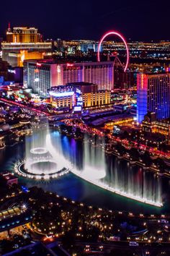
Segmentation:
{"type": "Polygon", "coordinates": [[[31,142],[26,141],[25,159],[15,165],[17,174],[31,179],[51,179],[68,173],[71,163],[66,161],[51,142],[48,124],[40,129],[31,142]]]}

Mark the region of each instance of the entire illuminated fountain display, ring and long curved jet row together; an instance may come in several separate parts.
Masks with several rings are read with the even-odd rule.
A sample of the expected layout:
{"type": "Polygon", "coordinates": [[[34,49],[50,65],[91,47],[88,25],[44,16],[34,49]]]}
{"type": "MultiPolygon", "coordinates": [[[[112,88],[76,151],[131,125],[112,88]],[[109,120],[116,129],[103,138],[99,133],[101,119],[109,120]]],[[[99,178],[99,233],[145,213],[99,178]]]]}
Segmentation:
{"type": "Polygon", "coordinates": [[[160,177],[106,155],[104,139],[86,135],[80,148],[78,144],[59,132],[53,132],[52,143],[47,125],[26,142],[25,160],[15,165],[15,171],[31,179],[53,179],[71,171],[115,194],[162,206],[160,177]]]}

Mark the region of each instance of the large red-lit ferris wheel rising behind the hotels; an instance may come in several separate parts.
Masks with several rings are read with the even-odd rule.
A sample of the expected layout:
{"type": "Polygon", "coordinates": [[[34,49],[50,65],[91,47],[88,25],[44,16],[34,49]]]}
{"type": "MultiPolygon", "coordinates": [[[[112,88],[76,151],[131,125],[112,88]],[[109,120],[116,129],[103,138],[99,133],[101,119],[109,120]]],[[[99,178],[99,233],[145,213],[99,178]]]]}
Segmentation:
{"type": "Polygon", "coordinates": [[[126,54],[127,54],[127,58],[126,58],[126,64],[125,66],[122,65],[120,59],[115,58],[115,61],[119,61],[120,64],[122,65],[122,67],[124,68],[124,72],[126,72],[126,70],[128,69],[128,64],[129,64],[129,49],[128,49],[128,44],[126,43],[125,38],[118,32],[116,31],[108,31],[107,33],[105,33],[102,38],[99,40],[99,45],[98,45],[98,49],[97,49],[97,61],[100,61],[100,48],[102,46],[102,42],[104,41],[105,38],[107,38],[107,36],[109,35],[117,35],[125,44],[125,48],[126,48],[126,54]]]}

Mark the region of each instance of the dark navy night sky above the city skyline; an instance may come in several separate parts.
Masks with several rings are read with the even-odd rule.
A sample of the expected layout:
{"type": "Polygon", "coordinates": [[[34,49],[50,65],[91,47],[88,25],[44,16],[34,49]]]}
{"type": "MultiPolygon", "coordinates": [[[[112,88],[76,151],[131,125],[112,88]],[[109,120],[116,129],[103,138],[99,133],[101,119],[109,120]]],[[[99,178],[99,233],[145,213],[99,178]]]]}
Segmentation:
{"type": "Polygon", "coordinates": [[[9,21],[53,39],[97,40],[118,30],[132,40],[170,40],[170,0],[3,0],[0,37],[9,21]]]}

